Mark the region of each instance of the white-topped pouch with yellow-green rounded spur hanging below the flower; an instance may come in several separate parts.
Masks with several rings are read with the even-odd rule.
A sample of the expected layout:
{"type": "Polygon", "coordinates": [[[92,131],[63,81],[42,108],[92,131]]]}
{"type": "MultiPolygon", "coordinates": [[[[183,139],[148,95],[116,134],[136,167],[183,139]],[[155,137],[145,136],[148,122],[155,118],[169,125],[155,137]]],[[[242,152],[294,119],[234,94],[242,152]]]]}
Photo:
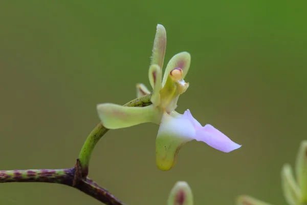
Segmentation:
{"type": "Polygon", "coordinates": [[[170,170],[177,162],[180,148],[194,139],[195,130],[190,120],[182,115],[163,114],[156,139],[156,163],[160,170],[170,170]]]}

